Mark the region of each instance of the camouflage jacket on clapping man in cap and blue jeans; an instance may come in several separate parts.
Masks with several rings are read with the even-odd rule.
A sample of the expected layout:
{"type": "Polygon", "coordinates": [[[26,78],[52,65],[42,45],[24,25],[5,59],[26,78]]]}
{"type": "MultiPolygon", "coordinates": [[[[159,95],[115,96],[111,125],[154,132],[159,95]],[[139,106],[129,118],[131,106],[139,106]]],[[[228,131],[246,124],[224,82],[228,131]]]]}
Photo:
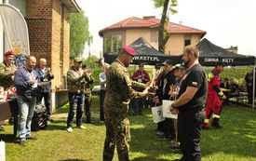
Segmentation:
{"type": "Polygon", "coordinates": [[[74,66],[67,73],[68,90],[69,92],[81,93],[85,90],[85,79],[87,76],[83,76],[84,71],[79,69],[76,71],[74,66]]]}

